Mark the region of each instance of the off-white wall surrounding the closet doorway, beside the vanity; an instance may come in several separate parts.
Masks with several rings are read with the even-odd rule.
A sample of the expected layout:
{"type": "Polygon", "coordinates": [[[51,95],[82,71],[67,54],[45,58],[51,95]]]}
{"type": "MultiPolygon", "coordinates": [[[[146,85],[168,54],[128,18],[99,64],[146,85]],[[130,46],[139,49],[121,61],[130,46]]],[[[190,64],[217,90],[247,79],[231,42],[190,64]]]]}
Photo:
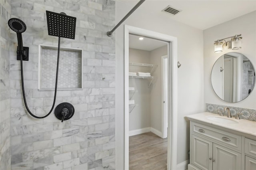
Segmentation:
{"type": "MultiPolygon", "coordinates": [[[[156,2],[157,3],[157,2],[156,2]]],[[[116,23],[130,8],[116,1],[116,23]]],[[[116,30],[116,169],[124,169],[124,24],[177,37],[178,61],[178,153],[177,164],[188,160],[189,123],[186,115],[204,111],[203,32],[172,21],[169,15],[158,17],[138,8],[116,30]]]]}

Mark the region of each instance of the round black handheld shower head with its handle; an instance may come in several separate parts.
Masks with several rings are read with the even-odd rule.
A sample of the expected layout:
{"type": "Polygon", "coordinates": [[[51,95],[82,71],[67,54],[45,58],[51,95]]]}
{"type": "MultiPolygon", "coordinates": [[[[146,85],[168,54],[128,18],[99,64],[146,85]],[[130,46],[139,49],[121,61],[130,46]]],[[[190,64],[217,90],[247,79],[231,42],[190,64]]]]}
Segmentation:
{"type": "Polygon", "coordinates": [[[14,32],[17,33],[18,51],[19,53],[22,53],[23,43],[22,43],[21,33],[26,31],[27,29],[26,24],[18,18],[11,18],[10,20],[8,20],[8,26],[10,27],[10,29],[12,29],[14,32]]]}

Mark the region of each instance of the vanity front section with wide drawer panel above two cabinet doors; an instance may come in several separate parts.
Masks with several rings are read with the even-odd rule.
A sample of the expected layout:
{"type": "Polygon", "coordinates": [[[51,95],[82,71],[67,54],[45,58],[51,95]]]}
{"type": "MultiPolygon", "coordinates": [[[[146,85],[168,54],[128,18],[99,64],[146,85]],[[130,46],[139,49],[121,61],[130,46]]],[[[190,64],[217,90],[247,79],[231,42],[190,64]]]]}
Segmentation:
{"type": "Polygon", "coordinates": [[[241,149],[240,141],[241,136],[192,123],[191,164],[202,170],[241,170],[241,153],[230,149],[241,149]]]}

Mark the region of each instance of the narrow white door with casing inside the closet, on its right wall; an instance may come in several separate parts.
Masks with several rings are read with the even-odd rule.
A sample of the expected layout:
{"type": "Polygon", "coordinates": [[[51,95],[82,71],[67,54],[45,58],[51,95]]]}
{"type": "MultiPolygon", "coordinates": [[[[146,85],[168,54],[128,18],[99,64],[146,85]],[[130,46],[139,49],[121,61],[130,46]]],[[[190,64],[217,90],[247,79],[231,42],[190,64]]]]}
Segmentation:
{"type": "Polygon", "coordinates": [[[167,138],[168,128],[168,56],[162,56],[162,138],[167,138]]]}

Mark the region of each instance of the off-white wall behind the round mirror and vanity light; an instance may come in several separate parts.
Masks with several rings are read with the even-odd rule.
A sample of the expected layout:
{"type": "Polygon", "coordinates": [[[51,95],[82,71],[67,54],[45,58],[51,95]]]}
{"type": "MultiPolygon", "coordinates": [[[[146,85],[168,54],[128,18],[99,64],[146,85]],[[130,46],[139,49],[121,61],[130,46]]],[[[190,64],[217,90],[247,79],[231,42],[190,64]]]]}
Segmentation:
{"type": "Polygon", "coordinates": [[[243,101],[228,103],[222,101],[213,91],[211,71],[214,62],[224,53],[238,52],[244,54],[254,68],[256,66],[256,11],[230,20],[218,26],[204,30],[204,103],[228,105],[248,109],[256,109],[256,89],[243,101]],[[222,53],[214,53],[214,41],[235,34],[242,34],[242,49],[223,49],[222,53]]]}

